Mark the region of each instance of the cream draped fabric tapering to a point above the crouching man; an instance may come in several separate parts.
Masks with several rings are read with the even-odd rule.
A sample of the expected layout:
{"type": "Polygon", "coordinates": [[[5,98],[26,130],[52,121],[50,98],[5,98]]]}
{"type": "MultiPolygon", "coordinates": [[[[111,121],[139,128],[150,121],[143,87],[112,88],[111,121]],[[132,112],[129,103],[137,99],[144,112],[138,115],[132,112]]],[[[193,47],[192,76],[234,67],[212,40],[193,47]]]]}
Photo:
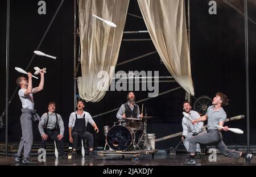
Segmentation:
{"type": "Polygon", "coordinates": [[[144,22],[164,65],[194,95],[184,0],[138,0],[144,22]]]}

